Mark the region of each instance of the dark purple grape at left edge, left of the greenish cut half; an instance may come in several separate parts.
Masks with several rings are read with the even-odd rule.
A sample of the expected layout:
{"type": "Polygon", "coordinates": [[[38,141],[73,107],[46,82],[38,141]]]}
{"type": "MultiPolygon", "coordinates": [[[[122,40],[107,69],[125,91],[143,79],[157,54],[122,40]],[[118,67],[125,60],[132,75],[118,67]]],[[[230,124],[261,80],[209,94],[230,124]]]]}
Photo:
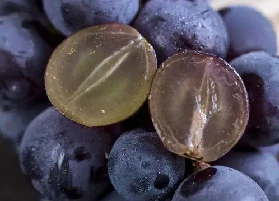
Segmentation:
{"type": "Polygon", "coordinates": [[[44,92],[51,47],[34,23],[23,12],[0,15],[0,101],[7,105],[23,105],[44,92]]]}

